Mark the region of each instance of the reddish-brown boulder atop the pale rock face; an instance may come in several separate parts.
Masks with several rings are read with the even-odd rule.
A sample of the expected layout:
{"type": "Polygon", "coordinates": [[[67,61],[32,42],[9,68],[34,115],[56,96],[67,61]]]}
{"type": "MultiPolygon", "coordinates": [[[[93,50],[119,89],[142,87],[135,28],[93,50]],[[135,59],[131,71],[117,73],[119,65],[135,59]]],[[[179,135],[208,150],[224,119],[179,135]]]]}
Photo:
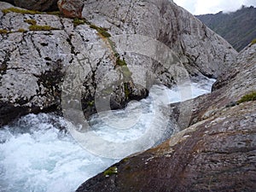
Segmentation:
{"type": "Polygon", "coordinates": [[[59,0],[58,8],[60,9],[62,15],[70,18],[81,18],[84,3],[80,0],[59,0]]]}

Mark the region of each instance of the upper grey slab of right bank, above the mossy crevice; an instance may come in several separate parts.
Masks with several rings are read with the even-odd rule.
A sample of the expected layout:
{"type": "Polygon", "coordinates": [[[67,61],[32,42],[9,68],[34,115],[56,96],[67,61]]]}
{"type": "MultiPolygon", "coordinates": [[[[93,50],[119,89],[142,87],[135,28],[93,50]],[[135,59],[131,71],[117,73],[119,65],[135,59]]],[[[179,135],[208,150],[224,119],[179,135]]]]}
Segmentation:
{"type": "MultiPolygon", "coordinates": [[[[212,94],[199,96],[194,100],[183,103],[183,112],[179,111],[180,103],[172,104],[177,120],[180,113],[192,111],[189,125],[207,119],[224,108],[230,108],[237,104],[242,96],[256,90],[256,44],[250,44],[236,57],[236,61],[230,69],[223,73],[212,86],[212,94]]],[[[183,120],[178,121],[181,129],[186,128],[183,120]]]]}

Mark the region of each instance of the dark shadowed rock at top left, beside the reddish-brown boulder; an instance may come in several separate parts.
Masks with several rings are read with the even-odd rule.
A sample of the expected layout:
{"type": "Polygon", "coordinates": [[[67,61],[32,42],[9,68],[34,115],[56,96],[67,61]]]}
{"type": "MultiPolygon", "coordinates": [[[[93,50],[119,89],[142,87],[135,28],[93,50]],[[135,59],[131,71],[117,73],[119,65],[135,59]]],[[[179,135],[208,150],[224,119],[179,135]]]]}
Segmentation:
{"type": "Polygon", "coordinates": [[[58,9],[57,1],[58,0],[15,0],[15,5],[24,9],[50,11],[58,9]]]}

